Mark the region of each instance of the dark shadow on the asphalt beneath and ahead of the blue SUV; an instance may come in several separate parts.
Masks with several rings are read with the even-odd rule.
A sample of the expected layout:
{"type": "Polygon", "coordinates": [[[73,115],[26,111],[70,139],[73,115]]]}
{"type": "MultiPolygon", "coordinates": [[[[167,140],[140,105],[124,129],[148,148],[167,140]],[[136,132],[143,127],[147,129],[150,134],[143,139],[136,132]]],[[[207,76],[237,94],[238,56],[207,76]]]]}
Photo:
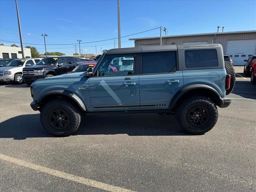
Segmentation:
{"type": "MultiPolygon", "coordinates": [[[[0,123],[0,138],[23,140],[36,137],[54,137],[40,123],[39,114],[20,115],[0,123]]],[[[83,116],[80,128],[74,135],[129,136],[182,136],[188,135],[180,129],[174,116],[157,114],[126,114],[83,116]]]]}

